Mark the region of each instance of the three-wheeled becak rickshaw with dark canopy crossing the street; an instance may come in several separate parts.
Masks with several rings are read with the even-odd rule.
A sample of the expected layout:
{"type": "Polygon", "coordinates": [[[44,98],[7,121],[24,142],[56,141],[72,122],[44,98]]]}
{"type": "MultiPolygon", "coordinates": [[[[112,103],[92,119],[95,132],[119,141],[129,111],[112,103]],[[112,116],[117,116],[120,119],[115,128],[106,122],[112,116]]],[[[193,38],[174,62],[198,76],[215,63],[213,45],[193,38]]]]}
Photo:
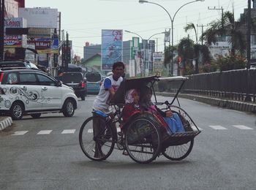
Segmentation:
{"type": "Polygon", "coordinates": [[[85,155],[94,161],[102,161],[108,158],[114,149],[123,151],[129,157],[141,164],[150,163],[157,156],[165,156],[167,159],[179,161],[186,158],[192,151],[194,138],[200,133],[192,118],[181,108],[178,101],[178,93],[181,91],[187,77],[140,77],[124,80],[116,91],[110,104],[113,113],[105,114],[99,110],[93,112],[93,116],[87,118],[80,127],[80,148],[85,155]],[[154,83],[157,81],[180,82],[179,88],[171,102],[158,102],[154,91],[154,83]],[[122,110],[125,106],[124,96],[132,88],[151,88],[154,94],[154,104],[162,107],[162,110],[172,110],[181,119],[184,132],[168,134],[162,121],[154,113],[149,111],[137,111],[128,121],[124,122],[122,110]],[[177,101],[177,105],[173,102],[177,101]],[[121,128],[121,131],[118,130],[121,128]]]}

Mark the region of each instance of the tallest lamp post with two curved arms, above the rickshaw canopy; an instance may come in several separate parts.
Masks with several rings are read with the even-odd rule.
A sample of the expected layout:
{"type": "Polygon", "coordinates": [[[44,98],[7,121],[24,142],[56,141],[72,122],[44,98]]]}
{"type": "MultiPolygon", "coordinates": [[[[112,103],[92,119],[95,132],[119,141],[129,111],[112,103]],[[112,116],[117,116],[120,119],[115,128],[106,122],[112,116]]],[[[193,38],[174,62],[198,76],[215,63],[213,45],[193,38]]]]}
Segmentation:
{"type": "MultiPolygon", "coordinates": [[[[178,12],[182,7],[186,6],[187,4],[192,4],[192,3],[197,2],[197,1],[204,1],[204,0],[195,0],[195,1],[190,1],[190,2],[187,2],[186,4],[183,4],[183,5],[182,5],[181,7],[179,7],[179,8],[177,9],[177,11],[174,13],[173,18],[170,16],[170,13],[167,12],[167,9],[165,9],[165,7],[162,7],[161,4],[157,4],[157,3],[150,2],[150,1],[145,1],[145,0],[139,0],[139,3],[141,3],[141,4],[143,4],[143,3],[156,4],[156,5],[158,5],[159,7],[162,7],[162,9],[164,9],[165,12],[167,12],[167,14],[169,15],[169,18],[170,18],[170,23],[171,23],[171,28],[172,28],[172,47],[173,47],[173,21],[174,21],[174,18],[176,17],[176,15],[177,15],[177,12],[178,12]]],[[[172,50],[172,62],[171,62],[171,64],[172,64],[171,73],[173,73],[173,50],[172,50]]],[[[169,66],[169,75],[170,75],[170,66],[169,66]]]]}

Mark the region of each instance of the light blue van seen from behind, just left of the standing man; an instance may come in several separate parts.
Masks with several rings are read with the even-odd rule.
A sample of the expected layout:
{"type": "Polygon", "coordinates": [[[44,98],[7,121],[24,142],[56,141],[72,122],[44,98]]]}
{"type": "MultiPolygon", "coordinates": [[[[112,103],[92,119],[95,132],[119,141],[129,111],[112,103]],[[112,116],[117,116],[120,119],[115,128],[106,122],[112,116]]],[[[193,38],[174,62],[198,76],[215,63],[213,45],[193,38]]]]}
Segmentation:
{"type": "Polygon", "coordinates": [[[99,93],[99,88],[102,83],[102,75],[99,72],[87,72],[86,89],[88,93],[99,93]]]}

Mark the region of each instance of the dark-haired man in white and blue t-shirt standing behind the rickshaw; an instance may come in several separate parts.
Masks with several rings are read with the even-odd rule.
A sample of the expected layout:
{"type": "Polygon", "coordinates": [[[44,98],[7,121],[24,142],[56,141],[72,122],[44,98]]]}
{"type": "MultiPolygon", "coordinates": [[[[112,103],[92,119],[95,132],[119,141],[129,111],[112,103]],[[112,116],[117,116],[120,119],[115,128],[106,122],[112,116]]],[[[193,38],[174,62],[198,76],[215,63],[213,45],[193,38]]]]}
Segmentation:
{"type": "MultiPolygon", "coordinates": [[[[123,81],[122,76],[124,75],[124,63],[121,61],[114,63],[112,66],[112,72],[113,75],[105,77],[104,82],[99,88],[99,94],[96,96],[92,106],[93,110],[99,110],[107,115],[111,113],[109,105],[110,99],[116,93],[117,88],[123,81]]],[[[105,123],[99,123],[99,121],[96,120],[94,121],[94,135],[98,134],[100,130],[99,127],[102,125],[104,126],[104,124],[105,123]]],[[[98,142],[95,143],[94,157],[102,157],[103,153],[101,147],[102,145],[100,145],[98,142]]]]}

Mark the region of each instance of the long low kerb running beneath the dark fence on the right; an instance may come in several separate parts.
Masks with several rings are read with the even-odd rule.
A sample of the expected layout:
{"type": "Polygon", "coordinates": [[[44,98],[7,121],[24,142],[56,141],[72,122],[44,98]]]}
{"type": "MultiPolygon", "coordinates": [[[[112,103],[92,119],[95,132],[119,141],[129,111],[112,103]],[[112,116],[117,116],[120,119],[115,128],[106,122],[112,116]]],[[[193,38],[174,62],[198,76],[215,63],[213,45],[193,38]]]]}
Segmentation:
{"type": "MultiPolygon", "coordinates": [[[[157,95],[161,96],[174,96],[170,92],[156,92],[157,95]]],[[[192,99],[197,102],[203,102],[206,104],[211,104],[218,107],[223,107],[231,110],[238,110],[246,113],[256,114],[256,104],[253,102],[241,102],[230,99],[218,99],[209,96],[198,96],[193,94],[178,94],[178,97],[185,99],[192,99]]]]}

